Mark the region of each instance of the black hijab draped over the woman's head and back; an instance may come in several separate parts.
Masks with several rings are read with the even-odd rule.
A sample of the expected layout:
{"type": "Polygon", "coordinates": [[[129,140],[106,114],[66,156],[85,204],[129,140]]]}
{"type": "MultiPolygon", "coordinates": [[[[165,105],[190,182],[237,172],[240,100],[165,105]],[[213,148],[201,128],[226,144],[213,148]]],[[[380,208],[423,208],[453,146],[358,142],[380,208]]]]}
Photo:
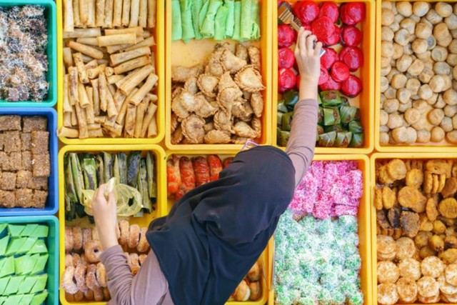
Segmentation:
{"type": "Polygon", "coordinates": [[[293,197],[286,153],[258,146],[236,155],[219,180],[190,191],[146,237],[176,305],[224,304],[273,235],[293,197]]]}

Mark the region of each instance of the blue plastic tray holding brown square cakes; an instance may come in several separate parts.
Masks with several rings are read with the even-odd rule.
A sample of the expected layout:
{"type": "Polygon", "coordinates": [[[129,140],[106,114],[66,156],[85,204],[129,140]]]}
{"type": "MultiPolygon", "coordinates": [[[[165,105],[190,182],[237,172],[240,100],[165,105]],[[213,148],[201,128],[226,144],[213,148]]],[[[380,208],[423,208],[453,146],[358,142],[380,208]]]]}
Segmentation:
{"type": "Polygon", "coordinates": [[[48,200],[44,209],[36,208],[0,208],[0,216],[36,216],[36,215],[54,215],[59,209],[59,176],[57,174],[57,113],[54,109],[49,108],[4,108],[0,107],[0,116],[16,114],[19,116],[46,116],[48,118],[49,131],[49,157],[51,158],[51,176],[48,183],[48,200]]]}

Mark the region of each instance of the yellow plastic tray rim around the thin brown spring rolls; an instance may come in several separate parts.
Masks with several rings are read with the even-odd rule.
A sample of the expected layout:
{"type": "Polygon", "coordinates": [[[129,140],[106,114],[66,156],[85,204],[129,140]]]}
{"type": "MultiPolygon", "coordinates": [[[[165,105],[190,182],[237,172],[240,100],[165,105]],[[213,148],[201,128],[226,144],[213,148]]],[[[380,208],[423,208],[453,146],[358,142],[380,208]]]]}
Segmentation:
{"type": "MultiPolygon", "coordinates": [[[[64,39],[63,39],[63,13],[62,0],[56,0],[57,4],[57,126],[64,125],[63,96],[64,96],[64,39]]],[[[165,8],[164,1],[157,1],[156,27],[152,31],[156,46],[153,47],[156,59],[156,74],[159,76],[157,85],[157,131],[154,138],[126,139],[126,138],[91,138],[91,139],[69,139],[59,137],[64,144],[157,144],[164,139],[165,130],[165,8]]]]}

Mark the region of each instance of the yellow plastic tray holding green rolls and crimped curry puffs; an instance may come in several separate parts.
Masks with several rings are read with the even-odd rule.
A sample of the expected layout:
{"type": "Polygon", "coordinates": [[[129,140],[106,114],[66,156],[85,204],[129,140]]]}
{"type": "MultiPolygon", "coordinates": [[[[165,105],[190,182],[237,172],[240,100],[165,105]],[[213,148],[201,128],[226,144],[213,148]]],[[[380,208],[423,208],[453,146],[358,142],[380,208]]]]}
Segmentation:
{"type": "MultiPolygon", "coordinates": [[[[262,121],[262,136],[259,139],[259,144],[271,144],[271,4],[273,1],[260,0],[261,2],[261,40],[252,42],[261,49],[261,74],[263,83],[266,89],[263,91],[263,114],[262,121]]],[[[275,2],[276,3],[276,2],[275,2]]],[[[218,43],[235,41],[226,39],[224,41],[215,41],[214,39],[192,39],[188,44],[183,41],[171,41],[171,1],[166,1],[166,83],[165,83],[165,144],[168,149],[176,150],[225,150],[238,151],[243,145],[238,144],[171,144],[171,65],[193,66],[206,59],[214,46],[218,43]]]]}

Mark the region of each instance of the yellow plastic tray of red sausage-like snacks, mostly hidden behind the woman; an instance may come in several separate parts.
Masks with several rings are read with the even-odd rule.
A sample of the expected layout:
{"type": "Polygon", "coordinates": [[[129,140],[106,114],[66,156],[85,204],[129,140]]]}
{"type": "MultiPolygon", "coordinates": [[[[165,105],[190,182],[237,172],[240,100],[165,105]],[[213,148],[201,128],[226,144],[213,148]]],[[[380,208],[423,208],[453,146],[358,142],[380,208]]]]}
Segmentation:
{"type": "MultiPolygon", "coordinates": [[[[225,151],[225,150],[218,150],[218,151],[211,151],[211,152],[209,152],[207,150],[196,150],[196,151],[179,150],[179,151],[166,151],[166,160],[168,160],[173,155],[188,156],[189,158],[191,158],[194,156],[207,156],[209,154],[217,154],[219,157],[221,157],[222,161],[224,161],[224,159],[226,159],[226,158],[236,155],[236,153],[233,153],[233,154],[227,153],[227,151],[225,151]]],[[[168,214],[168,211],[170,211],[170,209],[173,207],[174,203],[175,203],[174,199],[167,199],[167,214],[168,214]]],[[[261,258],[258,260],[262,266],[263,271],[265,272],[263,279],[261,279],[262,297],[260,299],[258,299],[257,301],[228,301],[228,302],[226,302],[226,305],[263,305],[263,304],[266,304],[266,301],[268,301],[268,276],[269,276],[268,275],[268,271],[269,271],[268,265],[270,264],[270,261],[271,261],[270,253],[271,253],[270,243],[268,243],[268,245],[266,246],[266,249],[261,254],[261,258]]]]}

